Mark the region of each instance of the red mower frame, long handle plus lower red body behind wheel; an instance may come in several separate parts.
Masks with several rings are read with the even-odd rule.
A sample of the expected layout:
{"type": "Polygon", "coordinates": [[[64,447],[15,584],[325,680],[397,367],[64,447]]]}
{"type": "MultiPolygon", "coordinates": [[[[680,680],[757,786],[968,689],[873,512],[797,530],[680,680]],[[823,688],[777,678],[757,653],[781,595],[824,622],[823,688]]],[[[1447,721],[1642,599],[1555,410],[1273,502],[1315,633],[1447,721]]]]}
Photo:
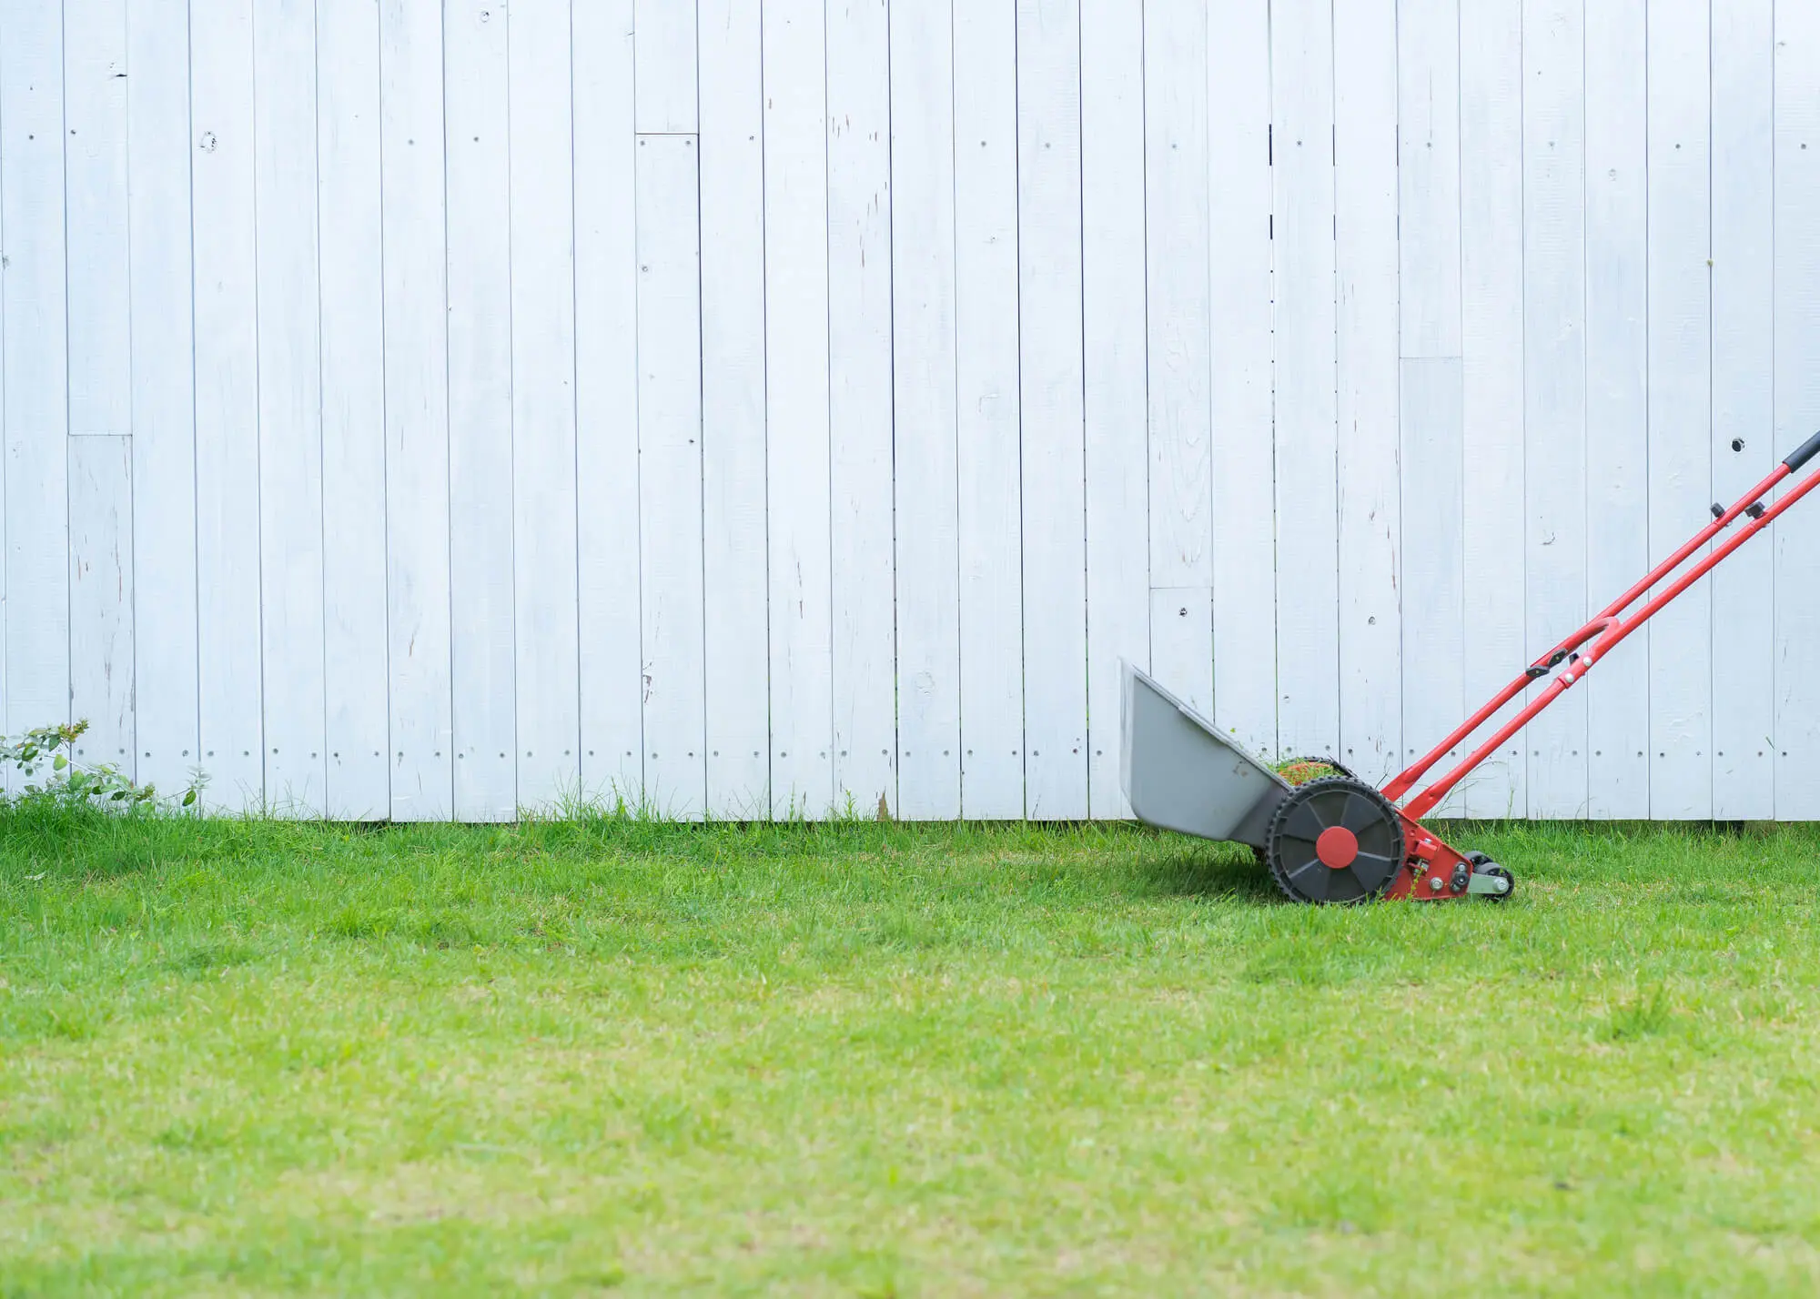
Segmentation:
{"type": "MultiPolygon", "coordinates": [[[[1421,817],[1434,811],[1434,808],[1441,804],[1454,786],[1471,775],[1485,759],[1496,753],[1512,735],[1529,726],[1529,722],[1534,720],[1542,710],[1565,695],[1582,677],[1592,671],[1594,664],[1620,646],[1625,637],[1656,617],[1689,586],[1711,573],[1733,551],[1769,528],[1769,524],[1795,506],[1796,500],[1820,486],[1820,473],[1811,473],[1791,489],[1784,491],[1773,504],[1764,504],[1764,500],[1780,484],[1798,475],[1816,455],[1820,455],[1820,433],[1807,438],[1807,442],[1802,444],[1795,455],[1778,464],[1774,473],[1751,488],[1751,491],[1745,493],[1731,509],[1713,506],[1713,522],[1702,528],[1685,546],[1649,569],[1649,573],[1640,579],[1636,586],[1605,606],[1596,619],[1562,640],[1554,646],[1554,650],[1542,655],[1536,662],[1523,670],[1523,675],[1498,691],[1491,702],[1454,728],[1454,731],[1451,731],[1447,739],[1436,744],[1425,757],[1383,786],[1383,797],[1392,804],[1400,804],[1398,815],[1403,821],[1405,850],[1409,855],[1409,870],[1398,871],[1398,879],[1385,897],[1409,897],[1436,902],[1467,897],[1467,881],[1474,873],[1478,862],[1445,844],[1440,835],[1425,830],[1421,826],[1421,817]],[[1687,568],[1687,571],[1680,573],[1680,577],[1674,577],[1673,582],[1662,588],[1658,595],[1645,600],[1653,588],[1674,575],[1682,564],[1700,551],[1700,548],[1713,542],[1714,537],[1724,533],[1740,519],[1744,519],[1745,524],[1738,528],[1736,533],[1727,537],[1724,544],[1714,546],[1702,555],[1691,568],[1687,568]],[[1636,606],[1638,600],[1643,600],[1643,604],[1633,611],[1633,606],[1636,606]],[[1441,762],[1441,759],[1478,733],[1478,730],[1496,717],[1505,704],[1551,673],[1554,673],[1554,680],[1536,693],[1536,697],[1523,710],[1500,726],[1491,739],[1472,750],[1472,753],[1461,759],[1461,762],[1451,771],[1410,797],[1410,791],[1432,768],[1441,762]],[[1403,802],[1403,799],[1409,801],[1403,802]]],[[[1471,891],[1476,893],[1478,890],[1474,888],[1471,891]]]]}

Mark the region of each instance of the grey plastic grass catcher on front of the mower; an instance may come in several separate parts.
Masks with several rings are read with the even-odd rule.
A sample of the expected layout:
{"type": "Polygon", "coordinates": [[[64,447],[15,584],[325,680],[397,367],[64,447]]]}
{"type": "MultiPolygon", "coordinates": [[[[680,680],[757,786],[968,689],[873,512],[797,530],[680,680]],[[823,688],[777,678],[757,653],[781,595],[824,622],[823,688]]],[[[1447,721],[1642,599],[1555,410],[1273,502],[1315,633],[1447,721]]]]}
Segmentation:
{"type": "Polygon", "coordinates": [[[1289,780],[1125,664],[1119,775],[1139,821],[1263,848],[1289,780]]]}

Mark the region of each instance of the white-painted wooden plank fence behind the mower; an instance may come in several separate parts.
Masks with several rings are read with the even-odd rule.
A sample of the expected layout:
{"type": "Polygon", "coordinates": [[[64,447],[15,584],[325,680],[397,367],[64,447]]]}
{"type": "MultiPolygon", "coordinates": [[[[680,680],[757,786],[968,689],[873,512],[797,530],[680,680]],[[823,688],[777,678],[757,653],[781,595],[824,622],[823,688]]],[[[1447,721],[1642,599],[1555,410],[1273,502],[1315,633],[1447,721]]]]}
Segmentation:
{"type": "MultiPolygon", "coordinates": [[[[1381,777],[1820,426],[1820,5],[0,0],[4,726],[224,808],[1381,777]]],[[[1465,791],[1820,817],[1820,509],[1465,791]]]]}

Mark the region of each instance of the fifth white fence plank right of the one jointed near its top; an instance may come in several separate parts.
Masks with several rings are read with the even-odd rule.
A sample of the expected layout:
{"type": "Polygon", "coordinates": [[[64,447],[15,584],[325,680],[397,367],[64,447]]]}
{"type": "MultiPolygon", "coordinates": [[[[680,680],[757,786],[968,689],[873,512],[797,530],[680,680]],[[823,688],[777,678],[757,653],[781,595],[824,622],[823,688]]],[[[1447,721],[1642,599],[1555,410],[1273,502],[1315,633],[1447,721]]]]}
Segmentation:
{"type": "MultiPolygon", "coordinates": [[[[961,810],[1025,811],[1014,4],[954,9],[956,411],[961,524],[961,810]]],[[[1028,320],[1023,322],[1028,327],[1028,320]]],[[[1057,611],[1036,619],[1036,635],[1057,611]]]]}

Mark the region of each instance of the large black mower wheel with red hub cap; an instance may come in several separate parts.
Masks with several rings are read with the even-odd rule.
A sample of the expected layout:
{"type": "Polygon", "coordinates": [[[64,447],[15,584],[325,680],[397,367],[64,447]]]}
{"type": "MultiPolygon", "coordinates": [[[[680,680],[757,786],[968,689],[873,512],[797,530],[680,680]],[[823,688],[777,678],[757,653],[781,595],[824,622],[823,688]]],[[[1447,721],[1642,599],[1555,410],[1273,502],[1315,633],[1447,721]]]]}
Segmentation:
{"type": "Polygon", "coordinates": [[[1310,780],[1276,810],[1263,855],[1292,902],[1365,902],[1403,866],[1403,819],[1363,780],[1310,780]]]}

